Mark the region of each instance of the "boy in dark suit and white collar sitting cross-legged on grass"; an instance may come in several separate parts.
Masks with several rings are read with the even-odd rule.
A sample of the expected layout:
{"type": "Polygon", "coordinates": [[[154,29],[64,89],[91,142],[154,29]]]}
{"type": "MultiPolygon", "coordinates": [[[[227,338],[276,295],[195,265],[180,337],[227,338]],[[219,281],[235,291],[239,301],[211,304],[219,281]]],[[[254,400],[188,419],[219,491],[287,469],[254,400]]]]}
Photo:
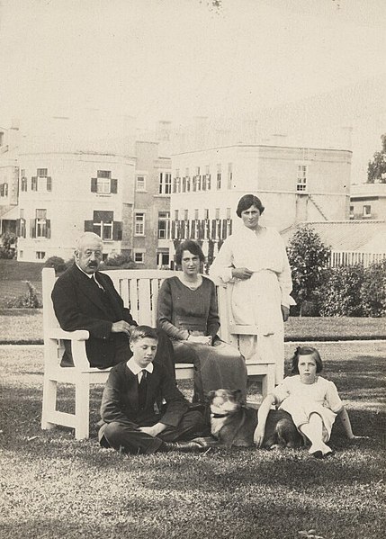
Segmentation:
{"type": "Polygon", "coordinates": [[[157,344],[156,329],[133,328],[133,355],[112,367],[103,391],[99,442],[126,454],[204,451],[206,445],[193,440],[204,429],[202,414],[190,409],[164,365],[153,363],[157,344]]]}

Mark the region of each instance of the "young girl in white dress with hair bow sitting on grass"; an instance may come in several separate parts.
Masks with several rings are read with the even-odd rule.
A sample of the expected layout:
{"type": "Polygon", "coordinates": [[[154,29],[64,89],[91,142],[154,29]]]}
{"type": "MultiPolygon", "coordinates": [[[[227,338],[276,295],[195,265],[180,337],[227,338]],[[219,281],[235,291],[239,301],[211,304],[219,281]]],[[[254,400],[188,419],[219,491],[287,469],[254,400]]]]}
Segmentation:
{"type": "Polygon", "coordinates": [[[292,357],[292,373],[295,376],[285,378],[273,393],[265,397],[258,410],[258,425],[254,435],[257,447],[263,444],[266,418],[273,405],[279,406],[279,409],[292,416],[305,441],[310,441],[310,454],[316,458],[333,454],[326,442],[329,440],[337,416],[350,440],[359,437],[353,434],[350,418],[340,400],[335,383],[319,376],[322,368],[323,364],[316,348],[311,346],[296,348],[292,357]]]}

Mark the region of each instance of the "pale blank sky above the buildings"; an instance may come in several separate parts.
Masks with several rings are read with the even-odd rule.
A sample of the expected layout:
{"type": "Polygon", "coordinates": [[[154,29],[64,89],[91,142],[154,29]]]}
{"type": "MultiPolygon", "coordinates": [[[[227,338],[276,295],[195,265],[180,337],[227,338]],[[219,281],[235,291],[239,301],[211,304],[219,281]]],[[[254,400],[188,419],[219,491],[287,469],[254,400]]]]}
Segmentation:
{"type": "Polygon", "coordinates": [[[351,145],[365,181],[386,132],[384,21],[384,0],[0,0],[0,126],[253,119],[351,145]]]}

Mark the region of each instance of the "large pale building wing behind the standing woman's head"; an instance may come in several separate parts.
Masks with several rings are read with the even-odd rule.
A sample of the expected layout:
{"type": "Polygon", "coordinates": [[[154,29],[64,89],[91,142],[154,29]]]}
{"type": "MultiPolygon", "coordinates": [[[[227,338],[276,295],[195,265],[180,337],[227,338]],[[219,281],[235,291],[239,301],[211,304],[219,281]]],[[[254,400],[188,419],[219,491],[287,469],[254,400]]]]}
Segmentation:
{"type": "Polygon", "coordinates": [[[352,152],[237,144],[172,157],[172,238],[196,238],[216,252],[239,220],[239,198],[255,193],[262,223],[283,230],[299,221],[346,220],[352,152]]]}

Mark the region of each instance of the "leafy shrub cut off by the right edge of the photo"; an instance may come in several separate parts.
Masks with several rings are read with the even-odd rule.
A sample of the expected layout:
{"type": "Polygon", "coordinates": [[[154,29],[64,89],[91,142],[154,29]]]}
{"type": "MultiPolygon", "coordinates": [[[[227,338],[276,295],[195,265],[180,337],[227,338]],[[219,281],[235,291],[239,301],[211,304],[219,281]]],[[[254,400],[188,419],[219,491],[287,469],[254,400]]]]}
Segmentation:
{"type": "Polygon", "coordinates": [[[366,316],[386,316],[386,260],[366,268],[361,297],[366,316]]]}

